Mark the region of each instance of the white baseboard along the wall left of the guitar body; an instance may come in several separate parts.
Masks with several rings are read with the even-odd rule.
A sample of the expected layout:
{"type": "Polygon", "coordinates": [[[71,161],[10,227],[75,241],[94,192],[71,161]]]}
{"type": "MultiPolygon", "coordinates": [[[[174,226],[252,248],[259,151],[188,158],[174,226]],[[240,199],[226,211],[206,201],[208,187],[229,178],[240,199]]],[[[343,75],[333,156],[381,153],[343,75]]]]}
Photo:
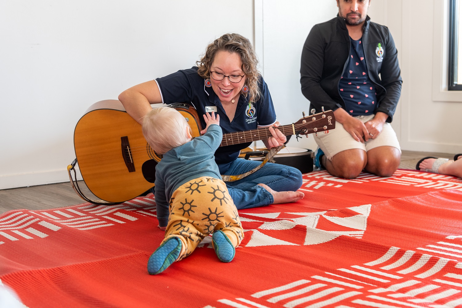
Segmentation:
{"type": "MultiPolygon", "coordinates": [[[[82,180],[80,170],[76,168],[77,180],[82,180]]],[[[73,172],[72,172],[73,173],[73,172]]],[[[0,175],[0,189],[28,187],[53,183],[68,182],[67,169],[53,171],[31,172],[15,175],[0,175]]]]}

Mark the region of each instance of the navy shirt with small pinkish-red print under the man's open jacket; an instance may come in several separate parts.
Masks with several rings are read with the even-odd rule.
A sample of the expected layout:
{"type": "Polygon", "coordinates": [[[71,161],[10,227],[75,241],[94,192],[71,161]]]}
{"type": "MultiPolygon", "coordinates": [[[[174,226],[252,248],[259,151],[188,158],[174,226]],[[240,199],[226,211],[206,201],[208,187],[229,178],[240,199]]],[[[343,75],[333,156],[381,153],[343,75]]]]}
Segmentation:
{"type": "Polygon", "coordinates": [[[350,37],[350,41],[350,57],[340,78],[339,93],[348,114],[371,115],[377,103],[377,94],[367,73],[362,38],[355,41],[350,37]]]}

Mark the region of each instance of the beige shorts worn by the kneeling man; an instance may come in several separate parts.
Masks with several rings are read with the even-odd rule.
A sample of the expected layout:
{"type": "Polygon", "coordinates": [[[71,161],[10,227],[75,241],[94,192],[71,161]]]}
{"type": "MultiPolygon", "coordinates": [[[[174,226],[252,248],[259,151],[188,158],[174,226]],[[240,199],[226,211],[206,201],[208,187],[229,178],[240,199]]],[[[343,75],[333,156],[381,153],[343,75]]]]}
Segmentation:
{"type": "MultiPolygon", "coordinates": [[[[359,115],[355,118],[365,123],[372,120],[374,115],[359,115]]],[[[369,139],[366,142],[358,142],[353,139],[350,133],[348,133],[339,122],[335,123],[335,128],[330,130],[329,133],[318,133],[314,138],[316,144],[321,148],[328,160],[331,160],[335,154],[341,151],[361,149],[367,152],[379,146],[392,146],[401,152],[400,143],[390,123],[383,124],[382,133],[380,133],[376,139],[369,139]]]]}

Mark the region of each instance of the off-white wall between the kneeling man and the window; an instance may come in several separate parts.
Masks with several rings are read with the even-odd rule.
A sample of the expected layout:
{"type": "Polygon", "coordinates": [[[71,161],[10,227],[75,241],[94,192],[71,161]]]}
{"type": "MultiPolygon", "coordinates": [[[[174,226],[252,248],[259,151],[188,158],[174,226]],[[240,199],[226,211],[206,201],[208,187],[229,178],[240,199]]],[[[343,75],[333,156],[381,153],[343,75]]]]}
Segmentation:
{"type": "Polygon", "coordinates": [[[462,92],[446,85],[447,11],[447,0],[371,2],[371,18],[389,26],[398,48],[403,88],[392,124],[403,150],[462,151],[462,92]]]}

